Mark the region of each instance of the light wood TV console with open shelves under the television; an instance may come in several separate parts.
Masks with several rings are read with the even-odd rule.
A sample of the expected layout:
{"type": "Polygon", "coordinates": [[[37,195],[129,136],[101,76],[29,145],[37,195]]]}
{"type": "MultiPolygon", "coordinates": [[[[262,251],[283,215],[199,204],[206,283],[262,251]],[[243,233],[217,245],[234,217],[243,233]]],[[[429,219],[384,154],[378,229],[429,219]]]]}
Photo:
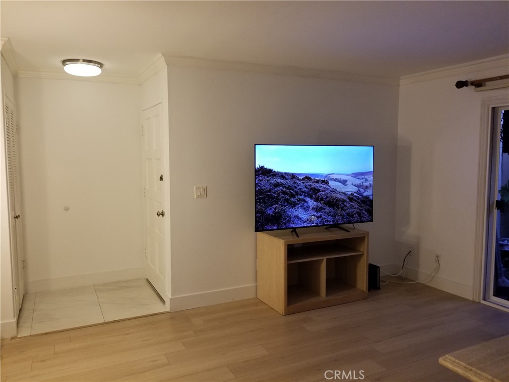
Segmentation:
{"type": "Polygon", "coordinates": [[[257,233],[258,298],[292,314],[367,298],[369,232],[324,227],[257,233]]]}

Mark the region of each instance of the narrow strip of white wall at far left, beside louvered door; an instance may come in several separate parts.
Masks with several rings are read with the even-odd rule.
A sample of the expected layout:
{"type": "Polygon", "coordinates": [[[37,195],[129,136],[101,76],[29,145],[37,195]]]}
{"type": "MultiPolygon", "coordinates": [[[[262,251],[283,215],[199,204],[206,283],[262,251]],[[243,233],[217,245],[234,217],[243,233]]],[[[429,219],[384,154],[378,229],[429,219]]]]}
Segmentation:
{"type": "MultiPolygon", "coordinates": [[[[14,100],[14,77],[7,66],[3,56],[0,56],[2,92],[11,100],[14,100]]],[[[7,186],[7,164],[5,153],[4,136],[4,102],[3,94],[0,95],[0,105],[2,106],[2,117],[0,117],[0,277],[1,277],[1,305],[0,305],[0,335],[2,338],[16,335],[17,312],[14,311],[13,279],[12,279],[12,261],[11,246],[9,234],[9,199],[7,186]]]]}

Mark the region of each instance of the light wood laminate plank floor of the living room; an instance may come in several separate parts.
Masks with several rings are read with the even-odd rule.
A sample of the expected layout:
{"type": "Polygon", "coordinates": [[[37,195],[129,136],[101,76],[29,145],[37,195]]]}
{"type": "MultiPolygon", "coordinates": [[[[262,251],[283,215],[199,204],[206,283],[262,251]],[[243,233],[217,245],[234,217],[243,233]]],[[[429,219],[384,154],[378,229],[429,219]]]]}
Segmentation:
{"type": "Polygon", "coordinates": [[[506,312],[389,283],[289,316],[253,298],[2,340],[0,382],[464,381],[439,357],[506,334],[506,312]]]}

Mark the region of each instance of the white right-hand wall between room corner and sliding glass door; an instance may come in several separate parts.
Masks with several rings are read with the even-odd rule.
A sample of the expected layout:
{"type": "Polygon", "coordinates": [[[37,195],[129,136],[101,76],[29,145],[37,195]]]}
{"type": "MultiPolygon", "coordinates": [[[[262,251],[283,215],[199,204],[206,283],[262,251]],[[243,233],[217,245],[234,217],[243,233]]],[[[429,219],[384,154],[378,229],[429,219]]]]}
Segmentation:
{"type": "Polygon", "coordinates": [[[430,285],[473,298],[481,102],[507,89],[456,89],[457,80],[506,74],[506,67],[422,80],[400,88],[396,237],[430,285]]]}

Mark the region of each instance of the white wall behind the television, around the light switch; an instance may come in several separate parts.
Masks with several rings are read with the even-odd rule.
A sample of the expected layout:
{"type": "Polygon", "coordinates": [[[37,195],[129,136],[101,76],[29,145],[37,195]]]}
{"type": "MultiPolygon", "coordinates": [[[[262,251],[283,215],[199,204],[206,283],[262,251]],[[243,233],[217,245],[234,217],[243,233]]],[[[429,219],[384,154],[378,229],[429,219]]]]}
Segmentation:
{"type": "Polygon", "coordinates": [[[168,88],[175,307],[256,293],[256,143],[373,144],[374,223],[357,227],[371,262],[394,262],[398,87],[169,67],[168,88]]]}

